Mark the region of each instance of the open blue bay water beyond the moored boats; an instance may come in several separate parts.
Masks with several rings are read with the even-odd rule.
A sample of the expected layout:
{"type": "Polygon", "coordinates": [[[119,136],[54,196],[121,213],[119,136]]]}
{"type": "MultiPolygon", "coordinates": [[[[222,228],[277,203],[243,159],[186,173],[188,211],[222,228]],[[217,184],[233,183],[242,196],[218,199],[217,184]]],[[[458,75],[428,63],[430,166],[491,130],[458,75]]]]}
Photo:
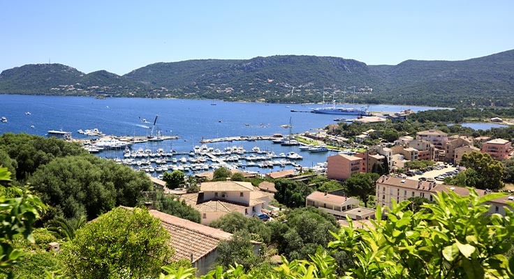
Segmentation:
{"type": "MultiPolygon", "coordinates": [[[[293,125],[292,133],[303,133],[335,123],[333,119],[338,117],[328,114],[291,112],[291,110],[305,111],[321,105],[229,103],[212,100],[144,98],[97,100],[88,97],[0,95],[0,104],[0,116],[6,116],[8,119],[8,122],[0,123],[0,134],[12,132],[44,136],[48,130],[64,130],[71,131],[75,138],[84,138],[85,135],[77,132],[79,129],[98,128],[106,135],[148,135],[155,116],[159,115],[156,128],[159,128],[163,135],[178,135],[179,140],[140,146],[153,150],[161,147],[167,151],[172,148],[179,152],[192,150],[193,146],[200,145],[199,141],[202,138],[288,134],[289,130],[280,126],[288,124],[290,119],[293,125]],[[27,115],[25,112],[31,114],[27,115]],[[142,119],[150,123],[142,123],[142,119]]],[[[379,112],[398,112],[406,109],[422,111],[438,108],[395,105],[369,107],[370,111],[379,112]]],[[[209,146],[214,149],[243,146],[247,150],[259,146],[261,150],[274,151],[277,154],[296,151],[304,156],[304,159],[298,163],[305,167],[325,162],[326,157],[333,154],[298,151],[298,146],[280,146],[270,141],[219,142],[209,146]]],[[[118,152],[104,151],[99,153],[99,156],[120,157],[121,151],[118,152]]],[[[273,170],[279,169],[280,167],[274,167],[273,170]]],[[[259,169],[254,168],[254,170],[259,169]]],[[[266,172],[271,170],[267,169],[266,172]]]]}

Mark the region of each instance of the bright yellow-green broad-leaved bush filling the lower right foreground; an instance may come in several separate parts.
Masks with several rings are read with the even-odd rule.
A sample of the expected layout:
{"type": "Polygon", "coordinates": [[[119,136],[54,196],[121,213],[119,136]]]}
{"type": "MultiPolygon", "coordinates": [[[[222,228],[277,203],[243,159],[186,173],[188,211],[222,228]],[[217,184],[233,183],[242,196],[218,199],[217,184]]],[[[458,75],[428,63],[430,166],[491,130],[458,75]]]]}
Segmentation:
{"type": "Polygon", "coordinates": [[[484,202],[501,196],[441,192],[422,206],[430,214],[393,201],[387,220],[378,206],[369,231],[343,227],[329,247],[351,255],[352,278],[512,278],[514,259],[503,254],[511,248],[504,240],[514,232],[514,213],[493,214],[490,225],[483,218],[490,209],[484,202]]]}

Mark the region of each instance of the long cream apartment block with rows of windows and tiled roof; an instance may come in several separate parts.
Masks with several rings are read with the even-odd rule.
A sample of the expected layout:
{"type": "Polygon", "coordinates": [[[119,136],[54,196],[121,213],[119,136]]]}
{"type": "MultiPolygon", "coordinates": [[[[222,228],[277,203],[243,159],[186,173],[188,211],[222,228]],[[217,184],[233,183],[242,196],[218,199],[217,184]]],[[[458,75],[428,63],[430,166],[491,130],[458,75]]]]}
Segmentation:
{"type": "MultiPolygon", "coordinates": [[[[437,184],[429,181],[416,181],[413,179],[402,179],[400,177],[383,175],[376,181],[376,204],[381,206],[392,206],[392,200],[403,202],[410,197],[425,197],[430,202],[434,200],[434,195],[439,192],[454,192],[457,195],[469,195],[468,188],[437,184]]],[[[483,196],[487,191],[476,189],[478,195],[483,196]]],[[[489,213],[499,213],[506,216],[504,206],[507,202],[512,202],[513,196],[493,199],[487,204],[491,205],[489,213]]]]}

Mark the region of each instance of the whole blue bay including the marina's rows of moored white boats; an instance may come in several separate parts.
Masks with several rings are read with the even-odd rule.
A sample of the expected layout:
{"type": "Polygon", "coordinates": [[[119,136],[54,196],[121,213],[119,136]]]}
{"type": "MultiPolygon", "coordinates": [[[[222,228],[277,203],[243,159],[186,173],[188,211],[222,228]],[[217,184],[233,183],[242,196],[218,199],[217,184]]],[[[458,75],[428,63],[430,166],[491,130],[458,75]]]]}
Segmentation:
{"type": "MultiPolygon", "coordinates": [[[[224,163],[226,165],[223,166],[261,174],[284,169],[307,169],[321,166],[328,156],[337,154],[337,151],[330,150],[309,151],[308,148],[303,149],[300,143],[288,145],[288,142],[295,144],[295,136],[323,128],[334,121],[333,114],[291,112],[306,110],[306,105],[302,104],[216,101],[214,106],[211,105],[212,100],[102,100],[22,95],[2,95],[0,101],[8,108],[2,112],[8,122],[1,123],[0,133],[47,136],[49,131],[57,131],[55,135],[59,136],[61,132],[69,131],[74,140],[85,143],[85,149],[94,155],[145,172],[148,170],[148,174],[156,177],[163,174],[165,169],[180,169],[186,174],[193,174],[215,169],[224,163]],[[286,133],[293,135],[293,138],[281,144],[288,139],[288,135],[283,135],[286,129],[286,133]],[[81,130],[83,133],[80,133],[81,130]],[[211,152],[205,155],[196,153],[195,147],[201,149],[204,144],[211,152]],[[125,157],[127,146],[135,158],[125,157]],[[227,153],[228,148],[230,154],[227,153]],[[140,149],[148,156],[138,157],[140,149]],[[166,156],[156,156],[157,153],[166,156]]],[[[373,107],[374,111],[382,112],[406,109],[419,111],[436,107],[373,107]]]]}

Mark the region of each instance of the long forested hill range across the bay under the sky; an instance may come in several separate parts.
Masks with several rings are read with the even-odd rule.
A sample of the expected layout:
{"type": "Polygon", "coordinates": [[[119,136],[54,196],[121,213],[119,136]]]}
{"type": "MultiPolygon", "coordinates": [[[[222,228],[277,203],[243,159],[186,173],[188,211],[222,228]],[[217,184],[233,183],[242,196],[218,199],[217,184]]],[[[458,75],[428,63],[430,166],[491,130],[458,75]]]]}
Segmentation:
{"type": "Polygon", "coordinates": [[[328,56],[268,56],[248,60],[154,63],[123,76],[105,70],[81,73],[61,64],[4,70],[0,93],[211,98],[265,102],[512,106],[514,50],[464,61],[408,60],[367,66],[328,56]]]}

